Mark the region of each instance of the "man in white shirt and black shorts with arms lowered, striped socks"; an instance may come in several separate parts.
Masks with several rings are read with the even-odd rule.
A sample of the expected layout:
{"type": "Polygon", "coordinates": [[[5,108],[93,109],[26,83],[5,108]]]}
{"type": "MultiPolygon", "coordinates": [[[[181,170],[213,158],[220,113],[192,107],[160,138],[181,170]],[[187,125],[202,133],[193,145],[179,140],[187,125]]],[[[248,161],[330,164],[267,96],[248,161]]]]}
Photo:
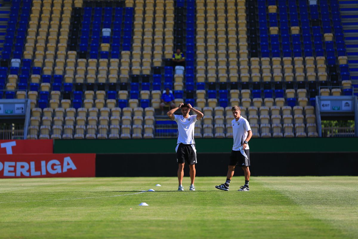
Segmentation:
{"type": "Polygon", "coordinates": [[[252,132],[247,119],[241,116],[241,109],[234,105],[232,108],[234,119],[231,121],[232,131],[234,135],[234,144],[229,161],[229,169],[227,171],[226,182],[222,185],[215,186],[217,189],[229,191],[229,184],[236,166],[241,166],[245,174],[245,185],[241,186],[238,191],[250,191],[248,182],[250,180],[250,152],[248,141],[251,139],[252,132]]]}

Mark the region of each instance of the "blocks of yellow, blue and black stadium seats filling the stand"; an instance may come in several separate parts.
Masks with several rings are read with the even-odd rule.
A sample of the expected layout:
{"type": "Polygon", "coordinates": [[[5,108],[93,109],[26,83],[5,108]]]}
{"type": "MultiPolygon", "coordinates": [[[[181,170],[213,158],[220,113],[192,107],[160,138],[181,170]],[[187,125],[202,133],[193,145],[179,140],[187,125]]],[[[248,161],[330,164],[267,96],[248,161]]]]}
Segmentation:
{"type": "Polygon", "coordinates": [[[253,137],[316,137],[315,96],[352,94],[337,0],[12,4],[1,97],[31,101],[31,138],[175,137],[167,87],[203,111],[195,137],[232,137],[232,105],[253,137]]]}

